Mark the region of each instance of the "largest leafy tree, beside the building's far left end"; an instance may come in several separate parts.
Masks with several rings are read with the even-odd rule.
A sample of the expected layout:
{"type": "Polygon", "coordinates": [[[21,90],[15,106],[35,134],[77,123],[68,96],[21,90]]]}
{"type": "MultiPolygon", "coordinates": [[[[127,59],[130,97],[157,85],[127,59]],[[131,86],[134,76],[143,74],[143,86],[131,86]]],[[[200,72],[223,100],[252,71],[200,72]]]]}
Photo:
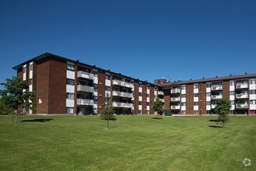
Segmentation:
{"type": "MultiPolygon", "coordinates": [[[[6,79],[6,82],[2,82],[0,85],[4,86],[5,89],[0,90],[0,96],[6,105],[11,106],[13,109],[19,110],[25,107],[34,107],[33,102],[34,92],[26,91],[28,89],[27,82],[21,78],[12,77],[12,79],[6,79]],[[25,90],[25,91],[24,91],[25,90]],[[30,99],[30,100],[29,100],[30,99]]],[[[18,111],[16,113],[16,122],[18,121],[18,111]]]]}

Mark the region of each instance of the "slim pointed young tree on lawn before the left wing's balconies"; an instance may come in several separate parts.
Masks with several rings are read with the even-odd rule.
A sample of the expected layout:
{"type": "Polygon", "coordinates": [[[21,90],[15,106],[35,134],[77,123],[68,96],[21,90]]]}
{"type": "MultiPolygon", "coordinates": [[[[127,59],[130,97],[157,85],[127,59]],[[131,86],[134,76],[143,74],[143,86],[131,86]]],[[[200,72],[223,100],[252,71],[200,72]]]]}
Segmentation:
{"type": "Polygon", "coordinates": [[[116,117],[114,115],[115,110],[112,109],[112,103],[110,101],[110,96],[106,95],[105,97],[105,103],[101,105],[104,107],[104,110],[101,111],[101,120],[107,120],[107,129],[109,127],[109,120],[116,120],[116,117]]]}

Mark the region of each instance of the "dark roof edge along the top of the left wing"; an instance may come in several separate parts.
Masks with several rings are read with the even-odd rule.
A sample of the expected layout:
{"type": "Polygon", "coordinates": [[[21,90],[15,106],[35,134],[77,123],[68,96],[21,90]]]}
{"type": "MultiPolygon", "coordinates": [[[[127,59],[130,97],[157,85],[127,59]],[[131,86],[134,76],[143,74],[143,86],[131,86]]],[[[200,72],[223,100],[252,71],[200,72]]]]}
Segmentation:
{"type": "MultiPolygon", "coordinates": [[[[50,57],[50,56],[55,57],[55,58],[60,58],[60,59],[66,60],[66,61],[70,61],[70,62],[73,62],[73,63],[75,63],[75,64],[87,65],[87,64],[85,64],[85,63],[83,63],[83,62],[80,62],[80,61],[78,61],[78,60],[74,61],[74,60],[69,59],[69,58],[61,57],[61,56],[59,56],[59,55],[51,54],[51,53],[46,52],[46,53],[44,53],[44,54],[40,54],[40,55],[38,55],[37,57],[34,57],[34,58],[28,60],[28,61],[25,61],[25,62],[21,63],[20,65],[16,65],[16,66],[13,67],[12,69],[17,70],[17,69],[19,69],[19,68],[22,68],[23,65],[26,65],[27,63],[30,63],[31,61],[38,61],[38,60],[41,60],[41,59],[43,59],[43,58],[50,57]]],[[[153,83],[151,83],[151,82],[142,81],[142,80],[140,80],[140,79],[134,79],[134,78],[132,78],[132,77],[130,77],[130,76],[122,75],[121,73],[112,72],[112,71],[110,71],[110,70],[106,70],[106,69],[103,69],[103,68],[99,68],[99,67],[97,67],[97,66],[95,66],[95,65],[87,65],[87,66],[89,66],[89,67],[91,67],[91,68],[95,68],[95,69],[101,70],[101,71],[103,71],[103,72],[109,72],[109,73],[112,73],[112,74],[121,75],[121,76],[123,76],[123,77],[129,78],[129,79],[133,79],[134,81],[137,80],[137,81],[139,81],[139,82],[144,82],[144,83],[149,84],[149,85],[151,85],[151,86],[158,86],[158,85],[153,84],[153,83]]]]}

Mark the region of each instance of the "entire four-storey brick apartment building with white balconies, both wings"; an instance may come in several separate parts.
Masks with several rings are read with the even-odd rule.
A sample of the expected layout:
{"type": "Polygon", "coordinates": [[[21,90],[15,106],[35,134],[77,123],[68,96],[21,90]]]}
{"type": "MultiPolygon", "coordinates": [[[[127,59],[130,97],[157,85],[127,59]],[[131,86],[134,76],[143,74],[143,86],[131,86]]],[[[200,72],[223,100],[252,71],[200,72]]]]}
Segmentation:
{"type": "Polygon", "coordinates": [[[153,114],[156,98],[172,114],[209,114],[216,100],[228,98],[230,113],[256,113],[256,74],[155,84],[55,54],[41,54],[14,67],[34,91],[35,114],[97,114],[108,94],[117,114],[153,114]]]}

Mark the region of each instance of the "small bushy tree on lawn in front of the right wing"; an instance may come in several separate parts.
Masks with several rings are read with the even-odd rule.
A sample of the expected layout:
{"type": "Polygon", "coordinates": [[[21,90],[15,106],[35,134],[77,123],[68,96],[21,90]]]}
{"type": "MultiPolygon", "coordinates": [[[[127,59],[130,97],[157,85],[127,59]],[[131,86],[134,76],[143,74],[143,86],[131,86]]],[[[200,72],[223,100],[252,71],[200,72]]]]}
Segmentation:
{"type": "Polygon", "coordinates": [[[215,113],[219,115],[218,119],[216,120],[217,124],[219,124],[219,122],[222,122],[222,127],[224,127],[225,124],[230,121],[229,115],[228,115],[230,109],[231,109],[231,103],[229,99],[217,100],[217,104],[214,109],[215,113]]]}

